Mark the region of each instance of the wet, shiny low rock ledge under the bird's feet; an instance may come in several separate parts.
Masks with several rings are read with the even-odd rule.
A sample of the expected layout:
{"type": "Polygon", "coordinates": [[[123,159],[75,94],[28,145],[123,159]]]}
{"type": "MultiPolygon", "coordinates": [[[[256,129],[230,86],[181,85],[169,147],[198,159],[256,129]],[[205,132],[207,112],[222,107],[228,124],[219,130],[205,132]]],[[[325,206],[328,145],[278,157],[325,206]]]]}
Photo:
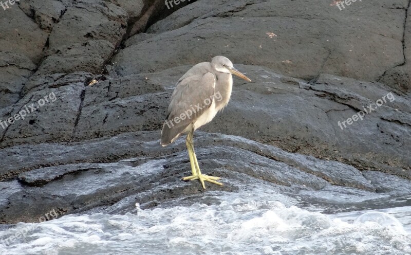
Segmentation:
{"type": "MultiPolygon", "coordinates": [[[[20,183],[10,182],[10,192],[3,194],[7,199],[0,200],[9,202],[0,210],[0,221],[34,221],[41,211],[53,208],[81,212],[133,194],[140,194],[137,201],[147,208],[203,193],[197,181],[180,180],[190,173],[184,142],[178,140],[170,148],[162,148],[155,140],[157,136],[157,131],[139,131],[66,145],[18,145],[0,150],[0,156],[6,159],[2,173],[18,174],[26,167],[18,174],[20,183]],[[18,153],[22,150],[26,153],[18,153]],[[51,167],[45,167],[44,162],[51,167]],[[38,208],[38,197],[43,197],[42,209],[38,208]],[[23,205],[32,210],[18,211],[23,205]]],[[[289,153],[245,138],[199,132],[196,144],[203,172],[221,176],[225,183],[222,187],[208,185],[210,190],[234,191],[261,181],[288,192],[321,190],[331,184],[375,189],[360,171],[343,163],[289,153]],[[342,175],[337,171],[330,175],[331,169],[340,169],[342,175]],[[342,177],[351,181],[343,183],[342,177]]]]}

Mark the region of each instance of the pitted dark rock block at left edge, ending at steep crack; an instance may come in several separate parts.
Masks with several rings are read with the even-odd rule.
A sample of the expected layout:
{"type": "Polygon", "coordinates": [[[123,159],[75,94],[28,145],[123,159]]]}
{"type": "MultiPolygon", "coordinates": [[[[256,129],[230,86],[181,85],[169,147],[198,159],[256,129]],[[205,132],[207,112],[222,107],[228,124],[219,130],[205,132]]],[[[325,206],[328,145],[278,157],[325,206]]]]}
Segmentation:
{"type": "Polygon", "coordinates": [[[0,115],[0,120],[15,118],[16,114],[26,115],[8,125],[5,130],[7,133],[0,139],[2,146],[27,142],[69,141],[76,126],[83,88],[91,77],[83,72],[55,77],[57,80],[48,80],[42,85],[39,83],[45,80],[36,80],[36,89],[32,89],[13,105],[12,110],[0,115]],[[45,99],[48,99],[48,102],[45,99]]]}

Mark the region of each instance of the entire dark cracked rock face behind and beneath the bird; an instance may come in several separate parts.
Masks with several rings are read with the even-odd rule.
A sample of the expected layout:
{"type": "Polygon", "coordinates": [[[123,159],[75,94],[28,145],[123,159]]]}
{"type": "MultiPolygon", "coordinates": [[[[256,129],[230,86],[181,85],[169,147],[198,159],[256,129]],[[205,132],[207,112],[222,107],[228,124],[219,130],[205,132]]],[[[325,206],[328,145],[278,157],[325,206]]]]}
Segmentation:
{"type": "Polygon", "coordinates": [[[162,148],[159,130],[173,84],[216,55],[253,82],[234,78],[229,105],[196,132],[200,167],[225,184],[208,190],[411,192],[409,1],[188,4],[0,9],[0,223],[199,199],[180,181],[184,140],[162,148]]]}

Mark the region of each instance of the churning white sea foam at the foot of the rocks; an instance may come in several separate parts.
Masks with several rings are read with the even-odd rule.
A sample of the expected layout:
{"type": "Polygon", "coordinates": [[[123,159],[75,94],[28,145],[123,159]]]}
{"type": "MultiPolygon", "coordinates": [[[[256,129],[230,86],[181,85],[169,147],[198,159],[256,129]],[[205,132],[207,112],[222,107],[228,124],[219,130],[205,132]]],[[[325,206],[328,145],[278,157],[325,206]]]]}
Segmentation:
{"type": "MultiPolygon", "coordinates": [[[[260,187],[261,188],[261,187],[260,187]]],[[[207,193],[206,193],[207,194],[207,193]]],[[[209,193],[210,194],[210,193],[209,193]]],[[[0,254],[407,254],[411,207],[327,215],[269,190],[215,192],[214,203],[67,215],[30,226],[0,254]],[[401,215],[404,215],[402,218],[401,215]],[[357,220],[356,220],[357,219],[357,220]],[[400,220],[400,221],[398,221],[400,220]]]]}

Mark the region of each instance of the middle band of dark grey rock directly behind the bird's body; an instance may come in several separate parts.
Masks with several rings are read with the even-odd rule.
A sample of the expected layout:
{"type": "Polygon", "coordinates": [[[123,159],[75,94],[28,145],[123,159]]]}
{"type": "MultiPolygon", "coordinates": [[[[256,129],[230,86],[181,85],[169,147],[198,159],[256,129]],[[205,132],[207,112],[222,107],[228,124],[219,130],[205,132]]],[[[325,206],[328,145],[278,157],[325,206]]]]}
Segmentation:
{"type": "MultiPolygon", "coordinates": [[[[404,150],[411,151],[409,96],[393,94],[380,83],[350,78],[321,75],[314,84],[308,84],[276,74],[268,68],[238,68],[254,82],[246,83],[235,78],[230,104],[203,130],[242,136],[290,152],[338,160],[360,170],[379,170],[411,177],[411,161],[403,153],[404,150]],[[381,101],[383,104],[377,106],[376,102],[382,99],[386,102],[381,101]],[[351,125],[343,122],[370,104],[377,110],[364,113],[363,120],[358,119],[351,125]]],[[[35,85],[35,91],[26,95],[26,98],[34,98],[28,101],[35,102],[41,98],[40,88],[55,86],[58,86],[55,90],[58,100],[46,105],[44,112],[35,112],[10,126],[1,145],[81,141],[123,132],[160,130],[173,91],[171,84],[186,69],[189,67],[104,78],[92,86],[87,86],[87,81],[92,79],[90,74],[84,74],[80,79],[72,80],[67,76],[57,82],[50,80],[40,87],[35,85]],[[60,99],[60,95],[65,96],[60,99]],[[68,102],[72,105],[69,112],[65,109],[68,102]],[[60,111],[67,112],[60,119],[49,114],[60,111]],[[69,122],[68,116],[71,116],[69,122]],[[43,121],[37,121],[39,119],[43,121]],[[33,125],[42,125],[43,128],[33,129],[33,125]]],[[[43,95],[47,95],[47,90],[43,95]]],[[[27,101],[23,100],[15,108],[20,111],[25,104],[27,101]]],[[[12,114],[15,113],[17,111],[12,114]]],[[[5,115],[4,119],[9,116],[12,115],[5,115]]],[[[349,175],[341,181],[348,182],[349,175]]]]}

